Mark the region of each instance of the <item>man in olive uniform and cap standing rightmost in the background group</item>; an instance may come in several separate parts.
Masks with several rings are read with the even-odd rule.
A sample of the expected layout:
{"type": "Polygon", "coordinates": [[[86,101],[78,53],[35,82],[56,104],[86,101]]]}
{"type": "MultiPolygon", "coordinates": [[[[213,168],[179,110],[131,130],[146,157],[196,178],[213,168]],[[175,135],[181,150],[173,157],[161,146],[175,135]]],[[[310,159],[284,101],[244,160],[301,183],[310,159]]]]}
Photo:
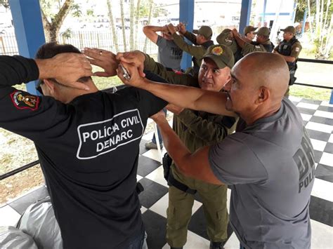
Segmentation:
{"type": "MultiPolygon", "coordinates": [[[[285,29],[281,29],[281,31],[283,31],[283,41],[274,48],[274,53],[281,55],[287,62],[290,72],[289,86],[292,86],[296,81],[296,63],[299,58],[299,53],[301,53],[302,46],[299,40],[295,37],[296,29],[294,27],[288,26],[285,29]]],[[[287,90],[287,93],[288,92],[289,88],[287,90]]]]}

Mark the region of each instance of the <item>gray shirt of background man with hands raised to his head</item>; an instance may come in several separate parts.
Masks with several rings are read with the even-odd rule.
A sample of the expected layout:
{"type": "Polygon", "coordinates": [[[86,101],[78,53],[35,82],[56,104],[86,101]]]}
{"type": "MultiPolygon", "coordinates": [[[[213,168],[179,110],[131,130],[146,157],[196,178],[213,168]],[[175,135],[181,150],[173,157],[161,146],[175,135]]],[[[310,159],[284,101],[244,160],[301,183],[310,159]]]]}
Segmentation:
{"type": "Polygon", "coordinates": [[[166,40],[162,36],[157,38],[157,62],[161,63],[164,67],[171,69],[181,69],[181,58],[183,51],[172,40],[166,40]]]}

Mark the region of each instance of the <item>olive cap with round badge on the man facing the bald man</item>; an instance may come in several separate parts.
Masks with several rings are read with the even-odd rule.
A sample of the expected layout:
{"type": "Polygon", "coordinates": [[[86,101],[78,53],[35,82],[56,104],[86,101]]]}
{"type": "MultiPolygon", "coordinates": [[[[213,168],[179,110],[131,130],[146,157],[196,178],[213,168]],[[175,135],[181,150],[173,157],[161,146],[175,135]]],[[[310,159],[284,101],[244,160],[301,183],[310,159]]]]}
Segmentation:
{"type": "Polygon", "coordinates": [[[233,51],[224,45],[212,45],[207,48],[204,53],[204,58],[210,58],[213,60],[218,68],[229,67],[230,69],[235,64],[235,58],[233,57],[233,51]]]}

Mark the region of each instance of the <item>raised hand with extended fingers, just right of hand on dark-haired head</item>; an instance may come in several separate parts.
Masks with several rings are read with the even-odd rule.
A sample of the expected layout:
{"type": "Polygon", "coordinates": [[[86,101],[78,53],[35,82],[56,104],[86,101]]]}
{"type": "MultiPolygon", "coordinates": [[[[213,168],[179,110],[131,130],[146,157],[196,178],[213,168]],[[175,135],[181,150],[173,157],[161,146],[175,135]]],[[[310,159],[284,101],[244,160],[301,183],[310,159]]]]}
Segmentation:
{"type": "Polygon", "coordinates": [[[84,55],[89,57],[92,65],[102,67],[104,72],[94,72],[93,76],[110,77],[117,74],[116,69],[119,65],[119,60],[116,55],[110,51],[100,48],[84,48],[84,55]]]}

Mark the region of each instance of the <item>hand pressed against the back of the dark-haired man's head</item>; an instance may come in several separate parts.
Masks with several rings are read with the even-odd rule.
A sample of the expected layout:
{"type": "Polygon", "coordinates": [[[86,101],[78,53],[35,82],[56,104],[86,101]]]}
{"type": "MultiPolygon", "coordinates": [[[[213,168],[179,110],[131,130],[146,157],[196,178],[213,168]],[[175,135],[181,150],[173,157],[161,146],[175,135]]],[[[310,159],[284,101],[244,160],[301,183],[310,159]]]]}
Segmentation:
{"type": "Polygon", "coordinates": [[[84,83],[77,82],[84,76],[91,76],[91,65],[81,53],[60,53],[51,59],[36,60],[39,79],[54,78],[65,86],[89,90],[84,83]]]}

